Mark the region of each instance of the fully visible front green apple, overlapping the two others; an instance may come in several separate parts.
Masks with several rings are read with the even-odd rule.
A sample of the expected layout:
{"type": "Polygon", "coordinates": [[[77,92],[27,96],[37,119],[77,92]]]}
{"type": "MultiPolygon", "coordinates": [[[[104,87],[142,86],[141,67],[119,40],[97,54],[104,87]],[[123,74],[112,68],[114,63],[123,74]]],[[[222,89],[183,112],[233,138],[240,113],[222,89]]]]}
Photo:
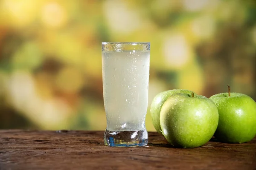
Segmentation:
{"type": "Polygon", "coordinates": [[[218,116],[215,103],[205,96],[173,94],[162,106],[160,126],[173,146],[200,147],[212,138],[218,116]]]}

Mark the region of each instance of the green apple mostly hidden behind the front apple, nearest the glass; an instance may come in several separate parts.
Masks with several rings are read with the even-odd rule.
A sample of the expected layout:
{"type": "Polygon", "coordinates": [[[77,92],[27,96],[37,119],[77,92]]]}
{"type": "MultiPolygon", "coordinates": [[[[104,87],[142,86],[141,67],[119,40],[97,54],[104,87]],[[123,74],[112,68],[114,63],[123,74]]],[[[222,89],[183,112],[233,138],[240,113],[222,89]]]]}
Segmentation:
{"type": "Polygon", "coordinates": [[[163,106],[163,103],[169,98],[169,96],[171,96],[173,94],[177,94],[177,93],[192,94],[194,92],[189,91],[189,90],[183,90],[183,89],[174,89],[174,90],[169,90],[169,91],[163,91],[163,92],[157,94],[154,97],[153,101],[151,102],[150,114],[151,114],[152,122],[153,122],[154,128],[160,134],[162,134],[162,130],[160,127],[160,111],[163,106]]]}

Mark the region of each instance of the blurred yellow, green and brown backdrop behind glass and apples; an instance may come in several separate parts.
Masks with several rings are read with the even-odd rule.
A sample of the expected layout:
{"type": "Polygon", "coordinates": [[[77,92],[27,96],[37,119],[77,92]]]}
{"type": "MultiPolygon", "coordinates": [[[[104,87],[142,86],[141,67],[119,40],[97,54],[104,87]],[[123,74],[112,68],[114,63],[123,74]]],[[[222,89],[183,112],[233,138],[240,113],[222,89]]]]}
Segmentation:
{"type": "Polygon", "coordinates": [[[148,106],[227,84],[256,99],[255,0],[1,0],[0,128],[105,130],[105,41],[151,42],[148,106]]]}

